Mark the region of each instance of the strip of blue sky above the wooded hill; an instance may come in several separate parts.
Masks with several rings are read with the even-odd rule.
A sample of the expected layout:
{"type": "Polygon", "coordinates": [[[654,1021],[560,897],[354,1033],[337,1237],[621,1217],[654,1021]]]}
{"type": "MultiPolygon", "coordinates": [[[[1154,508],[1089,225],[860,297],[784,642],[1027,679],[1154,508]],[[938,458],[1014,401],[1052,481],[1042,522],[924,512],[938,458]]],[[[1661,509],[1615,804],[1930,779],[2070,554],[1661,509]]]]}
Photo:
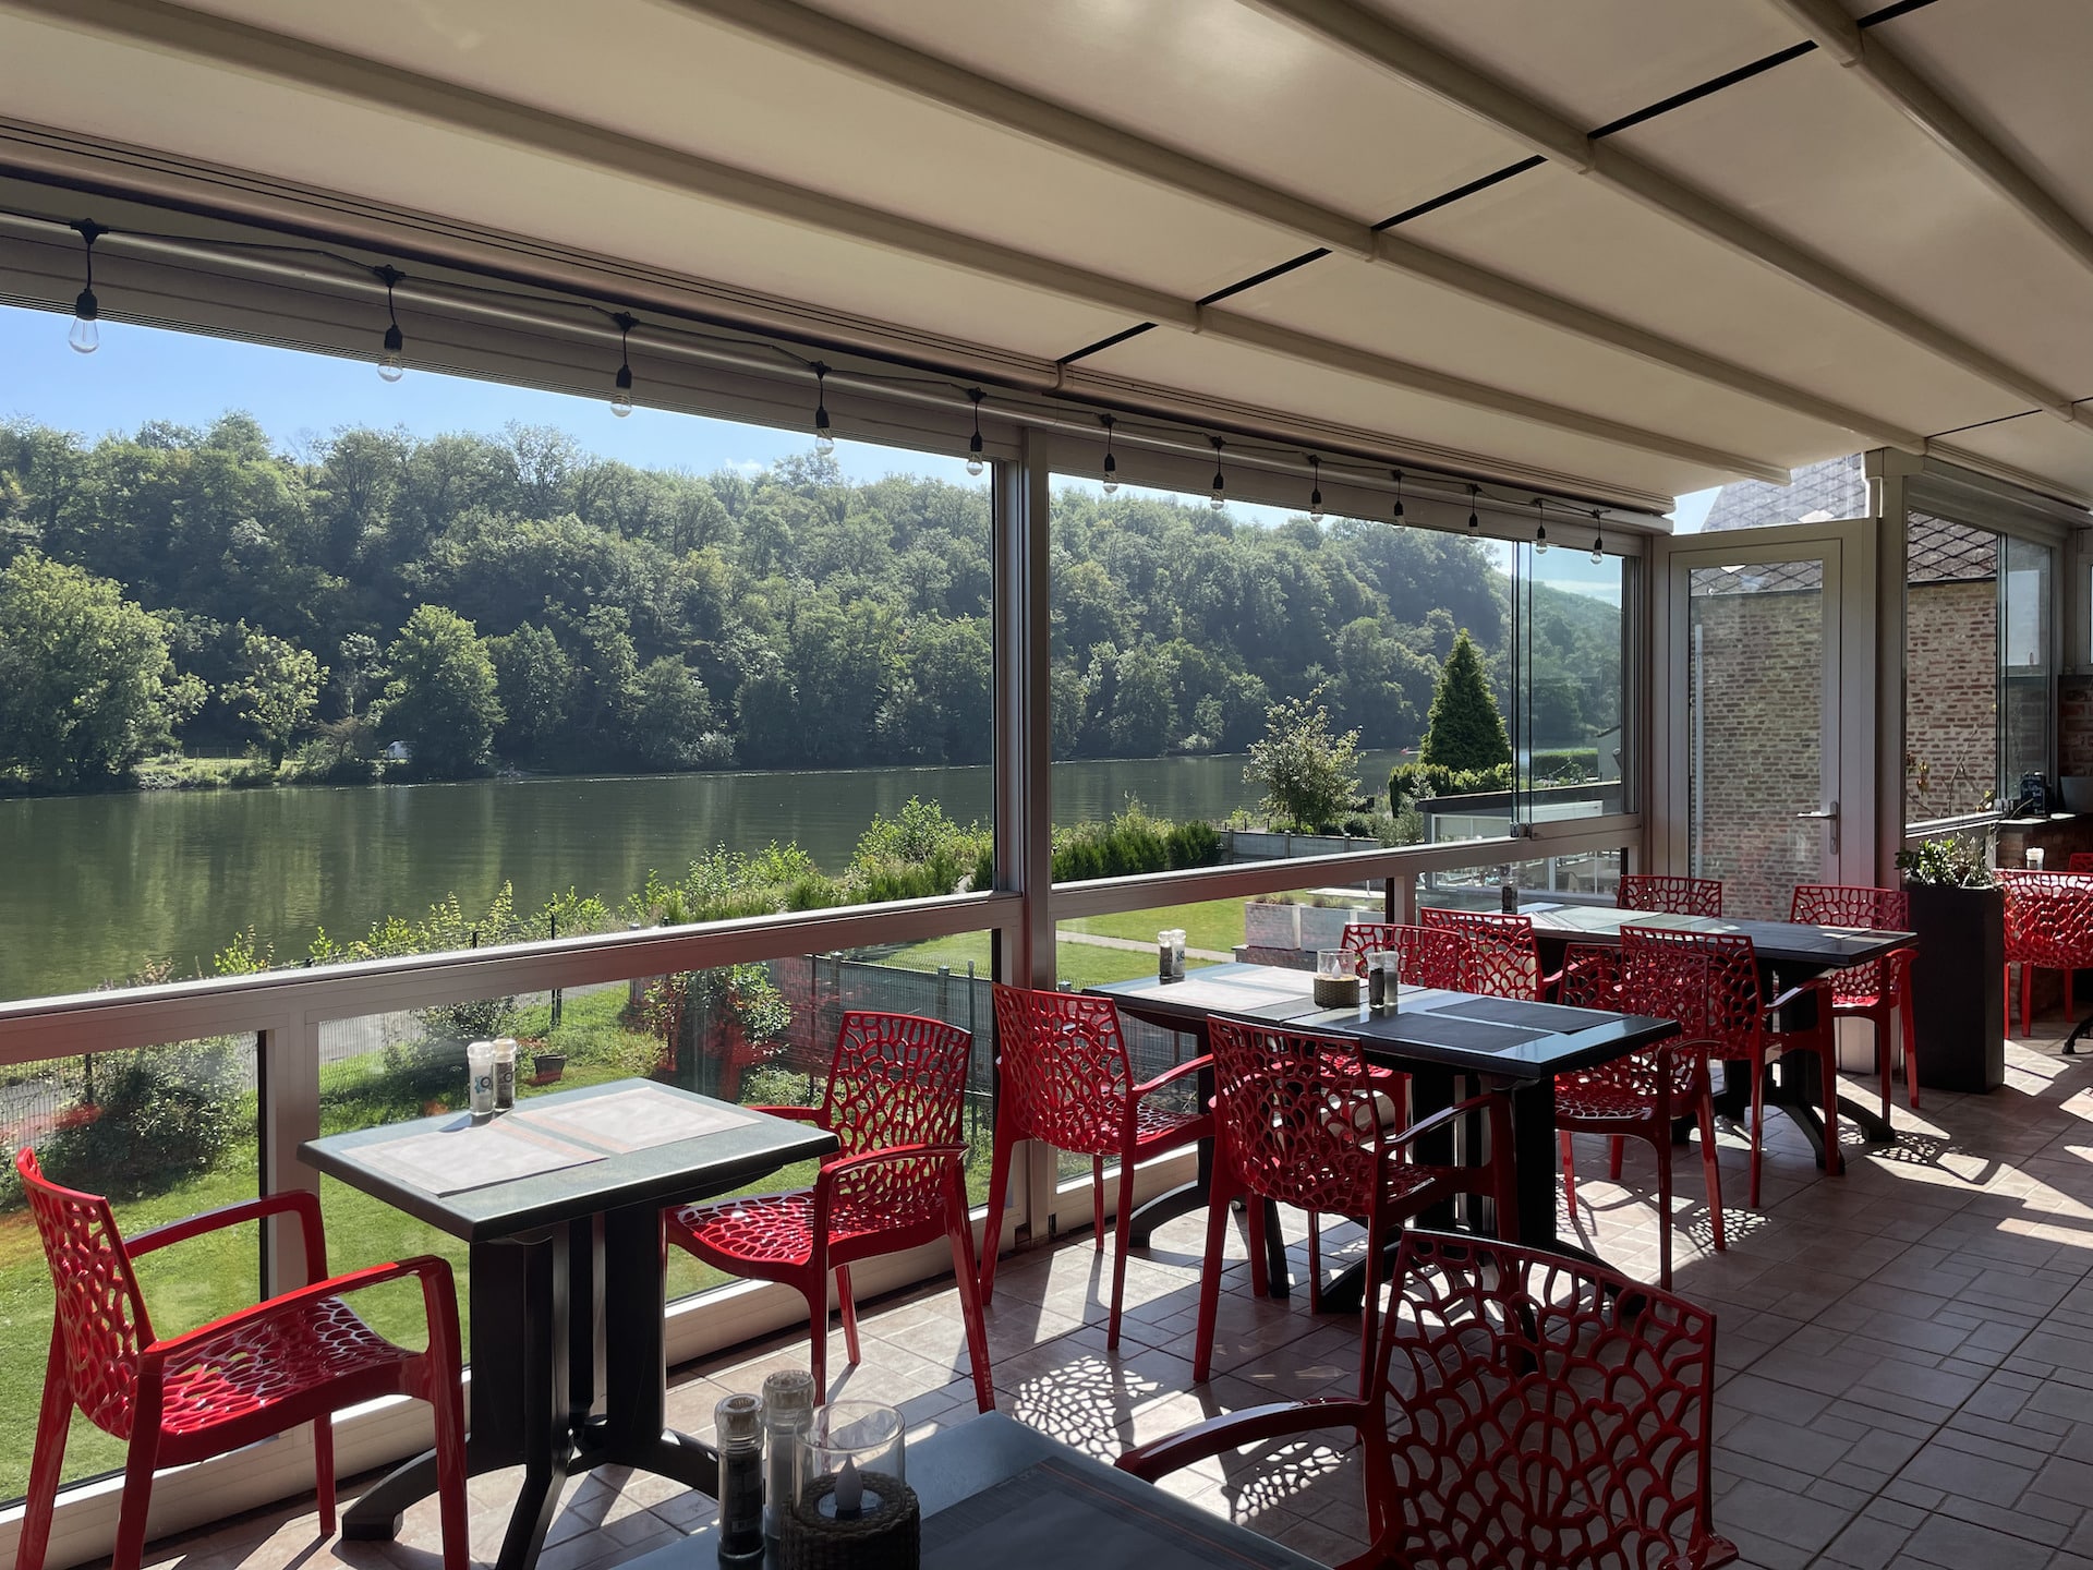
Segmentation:
{"type": "MultiPolygon", "coordinates": [[[[385,383],[368,360],[270,350],[107,318],[100,324],[103,347],[73,354],[65,343],[69,327],[71,318],[57,312],[0,306],[0,419],[25,417],[94,440],[105,431],[136,431],[155,419],[209,425],[226,410],[247,410],[272,442],[289,450],[343,425],[400,425],[414,435],[437,435],[500,431],[509,421],[521,421],[555,425],[603,458],[693,473],[756,471],[810,446],[800,431],[649,408],[615,419],[607,404],[590,398],[429,371],[408,371],[398,383],[385,383]]],[[[921,473],[969,484],[961,456],[862,442],[837,442],[835,456],[843,475],[858,481],[921,473]]],[[[1072,484],[1095,488],[1095,481],[1072,484]]],[[[1714,492],[1681,498],[1681,530],[1697,530],[1712,502],[1714,492]]],[[[1243,502],[1229,511],[1260,523],[1287,517],[1281,509],[1243,502]]],[[[1570,563],[1557,571],[1574,576],[1570,563]]]]}

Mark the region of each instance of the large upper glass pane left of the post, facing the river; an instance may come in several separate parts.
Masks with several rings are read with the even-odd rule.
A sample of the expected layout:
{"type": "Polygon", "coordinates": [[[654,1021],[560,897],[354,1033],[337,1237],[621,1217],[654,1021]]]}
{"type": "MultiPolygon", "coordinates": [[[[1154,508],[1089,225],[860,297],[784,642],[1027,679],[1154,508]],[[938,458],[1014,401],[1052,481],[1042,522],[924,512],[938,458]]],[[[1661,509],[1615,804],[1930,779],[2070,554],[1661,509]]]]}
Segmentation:
{"type": "Polygon", "coordinates": [[[100,674],[142,685],[38,674],[142,708],[96,710],[100,749],[50,743],[59,701],[10,728],[0,779],[33,789],[0,850],[65,898],[0,911],[0,996],[213,973],[249,929],[289,965],[322,934],[651,921],[649,871],[684,917],[973,871],[860,856],[910,800],[990,827],[990,494],[961,456],[147,327],[149,419],[103,429],[50,320],[0,308],[0,636],[90,607],[130,661],[100,674]]]}

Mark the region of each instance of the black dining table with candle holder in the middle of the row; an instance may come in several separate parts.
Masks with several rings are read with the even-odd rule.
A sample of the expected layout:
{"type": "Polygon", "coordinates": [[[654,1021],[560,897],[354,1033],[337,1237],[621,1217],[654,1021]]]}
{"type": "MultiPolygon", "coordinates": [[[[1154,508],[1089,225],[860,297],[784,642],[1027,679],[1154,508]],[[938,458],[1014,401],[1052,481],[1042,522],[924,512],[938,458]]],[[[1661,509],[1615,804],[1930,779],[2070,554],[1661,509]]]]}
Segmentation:
{"type": "MultiPolygon", "coordinates": [[[[1136,1019],[1195,1034],[1201,1045],[1214,1015],[1356,1040],[1369,1063],[1409,1076],[1417,1118],[1453,1105],[1461,1080],[1503,1089],[1511,1099],[1515,1241],[1595,1264],[1601,1260],[1566,1241],[1555,1225],[1555,1076],[1679,1034],[1674,1019],[1421,986],[1400,986],[1394,1009],[1375,1011],[1365,1001],[1325,1009],[1314,1001],[1308,971],[1277,965],[1210,965],[1183,980],[1107,982],[1090,992],[1113,999],[1136,1019]]],[[[1457,1151],[1425,1147],[1421,1156],[1455,1160],[1457,1151]]],[[[1264,1235],[1270,1250],[1279,1227],[1266,1227],[1264,1235]]],[[[1266,1264],[1277,1264],[1277,1279],[1285,1277],[1283,1243],[1266,1264]]],[[[1363,1271],[1346,1271],[1323,1289],[1323,1306],[1331,1313],[1356,1308],[1363,1285],[1363,1271]]]]}

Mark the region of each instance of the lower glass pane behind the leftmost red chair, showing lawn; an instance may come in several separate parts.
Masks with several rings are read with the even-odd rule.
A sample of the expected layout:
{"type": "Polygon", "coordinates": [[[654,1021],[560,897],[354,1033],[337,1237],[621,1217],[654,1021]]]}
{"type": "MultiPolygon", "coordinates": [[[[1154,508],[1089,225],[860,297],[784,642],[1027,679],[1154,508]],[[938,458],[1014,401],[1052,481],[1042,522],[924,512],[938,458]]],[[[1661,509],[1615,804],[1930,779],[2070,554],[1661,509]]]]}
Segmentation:
{"type": "MultiPolygon", "coordinates": [[[[15,1377],[0,1421],[0,1499],[15,1499],[29,1480],[54,1306],[50,1266],[15,1176],[15,1147],[31,1145],[54,1183],[107,1195],[126,1237],[253,1199],[260,1193],[255,1038],[216,1036],[21,1063],[8,1070],[6,1120],[0,1208],[10,1212],[13,1246],[0,1266],[0,1315],[15,1377]]],[[[180,1336],[260,1302],[260,1225],[247,1223],[142,1256],[136,1271],[153,1333],[180,1336]]],[[[370,1256],[379,1258],[393,1256],[370,1256]]],[[[63,1478],[117,1472],[123,1453],[123,1440],[75,1411],[63,1478]]]]}

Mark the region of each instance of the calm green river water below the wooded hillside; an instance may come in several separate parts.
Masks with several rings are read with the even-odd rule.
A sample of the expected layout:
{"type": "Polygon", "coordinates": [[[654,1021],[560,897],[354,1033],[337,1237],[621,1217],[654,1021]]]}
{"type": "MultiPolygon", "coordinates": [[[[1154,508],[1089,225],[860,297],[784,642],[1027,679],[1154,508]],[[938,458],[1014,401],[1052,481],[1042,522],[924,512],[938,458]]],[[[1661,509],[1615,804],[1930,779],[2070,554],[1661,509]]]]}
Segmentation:
{"type": "MultiPolygon", "coordinates": [[[[1365,791],[1394,754],[1360,758],[1365,791]]],[[[1220,818],[1256,802],[1243,758],[1055,764],[1055,823],[1118,812],[1128,795],[1166,818],[1220,818]]],[[[318,927],[360,938],[456,892],[483,911],[507,879],[519,911],[555,892],[613,909],[649,869],[680,877],[714,846],[797,842],[823,871],[850,860],[875,812],[936,800],[990,814],[988,768],[647,775],[463,785],[142,791],[0,802],[0,999],[123,978],[167,959],[176,975],[253,925],[295,961],[318,927]]]]}

